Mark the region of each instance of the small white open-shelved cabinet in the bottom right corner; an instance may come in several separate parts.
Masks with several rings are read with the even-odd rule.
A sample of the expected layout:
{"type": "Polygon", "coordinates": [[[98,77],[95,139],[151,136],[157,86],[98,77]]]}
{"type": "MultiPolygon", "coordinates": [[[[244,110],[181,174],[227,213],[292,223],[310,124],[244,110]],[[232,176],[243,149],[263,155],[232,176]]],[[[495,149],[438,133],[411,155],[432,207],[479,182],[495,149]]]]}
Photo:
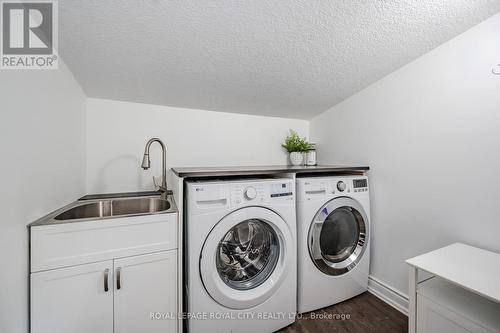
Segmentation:
{"type": "Polygon", "coordinates": [[[500,333],[499,253],[455,243],[406,262],[409,333],[500,333]]]}

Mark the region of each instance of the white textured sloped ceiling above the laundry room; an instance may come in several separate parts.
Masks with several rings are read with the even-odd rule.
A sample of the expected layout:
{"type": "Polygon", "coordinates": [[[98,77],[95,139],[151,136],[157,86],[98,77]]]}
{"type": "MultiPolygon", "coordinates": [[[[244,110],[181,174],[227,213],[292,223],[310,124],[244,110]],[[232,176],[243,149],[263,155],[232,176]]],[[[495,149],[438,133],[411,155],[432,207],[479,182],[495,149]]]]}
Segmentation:
{"type": "Polygon", "coordinates": [[[311,118],[500,11],[500,0],[60,0],[90,97],[311,118]]]}

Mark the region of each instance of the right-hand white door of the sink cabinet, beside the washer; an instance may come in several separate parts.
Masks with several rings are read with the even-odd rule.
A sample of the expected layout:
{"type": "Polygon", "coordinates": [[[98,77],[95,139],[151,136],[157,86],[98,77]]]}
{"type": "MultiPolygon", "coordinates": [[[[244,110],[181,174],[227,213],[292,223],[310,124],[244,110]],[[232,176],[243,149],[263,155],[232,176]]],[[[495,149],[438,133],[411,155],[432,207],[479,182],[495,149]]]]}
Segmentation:
{"type": "Polygon", "coordinates": [[[174,333],[177,329],[177,251],[114,261],[115,333],[174,333]]]}

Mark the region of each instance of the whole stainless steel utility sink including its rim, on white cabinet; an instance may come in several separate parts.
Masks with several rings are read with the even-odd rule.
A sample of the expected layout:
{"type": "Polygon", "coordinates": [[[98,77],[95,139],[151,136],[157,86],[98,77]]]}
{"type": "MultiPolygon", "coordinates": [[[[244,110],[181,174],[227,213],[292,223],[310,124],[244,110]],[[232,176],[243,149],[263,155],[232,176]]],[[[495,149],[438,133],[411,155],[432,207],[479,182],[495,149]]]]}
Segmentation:
{"type": "Polygon", "coordinates": [[[171,196],[76,201],[32,223],[31,226],[171,212],[177,212],[171,196]]]}

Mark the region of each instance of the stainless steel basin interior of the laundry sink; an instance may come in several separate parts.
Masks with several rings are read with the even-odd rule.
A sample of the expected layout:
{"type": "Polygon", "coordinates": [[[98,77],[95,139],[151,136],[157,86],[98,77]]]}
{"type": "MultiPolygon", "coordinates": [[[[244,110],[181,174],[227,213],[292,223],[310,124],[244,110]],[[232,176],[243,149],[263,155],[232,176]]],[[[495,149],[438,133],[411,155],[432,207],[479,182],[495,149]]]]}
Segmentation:
{"type": "Polygon", "coordinates": [[[167,212],[170,208],[172,208],[170,200],[159,197],[98,200],[68,207],[68,209],[56,215],[54,220],[67,221],[147,215],[167,212]]]}

